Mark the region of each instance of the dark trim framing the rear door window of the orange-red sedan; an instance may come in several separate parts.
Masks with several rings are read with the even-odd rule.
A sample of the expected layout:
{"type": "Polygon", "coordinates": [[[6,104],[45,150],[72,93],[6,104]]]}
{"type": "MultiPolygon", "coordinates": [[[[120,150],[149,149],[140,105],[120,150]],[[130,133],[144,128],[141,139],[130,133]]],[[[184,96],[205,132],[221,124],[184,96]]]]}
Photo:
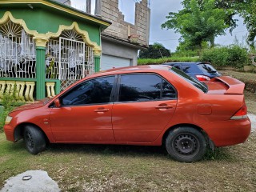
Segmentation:
{"type": "MultiPolygon", "coordinates": [[[[160,96],[162,97],[162,85],[161,85],[161,90],[160,90],[160,96]]],[[[150,73],[150,72],[147,72],[147,73],[133,73],[133,74],[118,74],[118,81],[117,81],[117,89],[116,89],[116,95],[114,97],[114,103],[129,103],[129,102],[158,102],[158,101],[172,101],[172,100],[178,100],[178,91],[176,90],[176,88],[168,81],[166,80],[166,78],[162,77],[162,75],[160,74],[157,74],[157,73],[150,73]],[[119,98],[119,94],[120,94],[120,86],[121,86],[121,76],[122,75],[135,75],[135,74],[153,74],[153,75],[156,75],[158,76],[159,78],[162,78],[162,80],[165,80],[167,83],[170,84],[170,86],[173,88],[175,94],[176,94],[176,97],[175,98],[172,98],[172,99],[156,99],[156,100],[150,100],[150,101],[126,101],[126,102],[119,102],[118,101],[118,98],[119,98]]]]}

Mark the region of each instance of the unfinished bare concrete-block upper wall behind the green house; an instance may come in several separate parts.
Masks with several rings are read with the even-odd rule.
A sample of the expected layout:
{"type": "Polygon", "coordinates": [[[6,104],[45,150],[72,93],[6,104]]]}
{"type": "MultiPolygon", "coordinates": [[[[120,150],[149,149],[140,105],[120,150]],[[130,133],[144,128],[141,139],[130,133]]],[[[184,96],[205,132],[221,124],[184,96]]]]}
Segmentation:
{"type": "Polygon", "coordinates": [[[103,31],[118,38],[129,39],[130,35],[138,35],[138,43],[149,45],[150,9],[148,0],[135,4],[135,24],[124,21],[124,15],[118,9],[118,0],[102,0],[102,18],[110,20],[112,25],[103,31]]]}

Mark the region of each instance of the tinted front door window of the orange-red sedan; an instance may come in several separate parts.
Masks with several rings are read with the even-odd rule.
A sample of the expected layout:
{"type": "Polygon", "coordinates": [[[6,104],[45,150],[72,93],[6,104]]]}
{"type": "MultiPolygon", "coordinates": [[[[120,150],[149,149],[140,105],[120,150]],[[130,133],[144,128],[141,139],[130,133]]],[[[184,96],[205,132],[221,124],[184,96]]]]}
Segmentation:
{"type": "Polygon", "coordinates": [[[110,102],[114,76],[81,82],[60,98],[62,106],[78,106],[110,102]]]}

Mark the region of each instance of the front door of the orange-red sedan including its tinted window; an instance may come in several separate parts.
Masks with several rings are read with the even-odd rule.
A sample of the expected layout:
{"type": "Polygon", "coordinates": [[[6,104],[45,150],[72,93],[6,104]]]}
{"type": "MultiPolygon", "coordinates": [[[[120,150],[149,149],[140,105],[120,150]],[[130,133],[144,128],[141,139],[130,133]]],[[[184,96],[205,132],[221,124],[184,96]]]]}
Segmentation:
{"type": "Polygon", "coordinates": [[[56,142],[114,142],[110,96],[114,76],[93,78],[60,96],[50,112],[56,142]]]}

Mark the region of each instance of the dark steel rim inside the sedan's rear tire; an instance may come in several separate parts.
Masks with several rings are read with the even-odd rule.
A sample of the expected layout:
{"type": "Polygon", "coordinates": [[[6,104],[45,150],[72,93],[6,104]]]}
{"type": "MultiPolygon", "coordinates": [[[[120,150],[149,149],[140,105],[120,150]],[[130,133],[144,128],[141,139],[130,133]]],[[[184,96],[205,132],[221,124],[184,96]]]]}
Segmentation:
{"type": "Polygon", "coordinates": [[[174,138],[174,150],[184,156],[194,156],[200,148],[198,138],[194,134],[179,134],[174,138]]]}

